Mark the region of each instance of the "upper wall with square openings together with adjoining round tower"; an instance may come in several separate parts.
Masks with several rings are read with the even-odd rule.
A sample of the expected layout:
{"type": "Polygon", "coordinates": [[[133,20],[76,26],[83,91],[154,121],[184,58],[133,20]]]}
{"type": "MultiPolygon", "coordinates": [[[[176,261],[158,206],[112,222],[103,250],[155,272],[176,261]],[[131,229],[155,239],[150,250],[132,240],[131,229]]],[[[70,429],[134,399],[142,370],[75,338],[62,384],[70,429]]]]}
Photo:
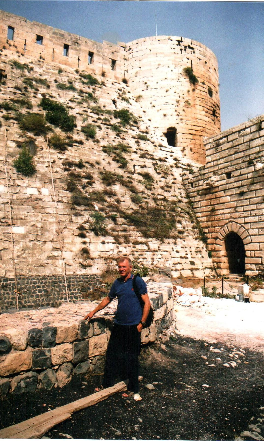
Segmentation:
{"type": "Polygon", "coordinates": [[[4,11],[0,16],[0,44],[12,52],[99,75],[104,71],[114,80],[127,78],[164,142],[167,128],[174,127],[175,150],[205,162],[202,138],[220,131],[218,66],[210,49],[187,38],[166,36],[101,44],[4,11]],[[14,30],[13,41],[7,40],[8,26],[14,30]],[[193,68],[196,86],[183,75],[185,67],[193,68]]]}

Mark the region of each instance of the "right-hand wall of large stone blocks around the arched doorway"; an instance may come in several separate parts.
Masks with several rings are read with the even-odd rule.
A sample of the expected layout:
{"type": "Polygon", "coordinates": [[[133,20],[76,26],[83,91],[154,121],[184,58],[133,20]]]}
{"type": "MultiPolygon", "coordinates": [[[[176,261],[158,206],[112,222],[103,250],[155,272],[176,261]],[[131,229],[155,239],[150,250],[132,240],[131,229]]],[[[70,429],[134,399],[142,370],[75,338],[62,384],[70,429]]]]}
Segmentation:
{"type": "Polygon", "coordinates": [[[230,269],[225,239],[231,232],[245,247],[246,274],[264,271],[263,120],[262,115],[205,140],[205,167],[183,179],[219,274],[230,269]]]}

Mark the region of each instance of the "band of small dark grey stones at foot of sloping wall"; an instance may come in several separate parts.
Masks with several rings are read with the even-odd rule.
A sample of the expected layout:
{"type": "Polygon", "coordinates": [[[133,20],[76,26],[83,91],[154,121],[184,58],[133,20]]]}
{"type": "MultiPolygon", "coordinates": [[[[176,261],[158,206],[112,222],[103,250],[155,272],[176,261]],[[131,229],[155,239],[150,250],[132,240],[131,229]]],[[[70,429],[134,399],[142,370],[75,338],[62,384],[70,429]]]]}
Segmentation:
{"type": "MultiPolygon", "coordinates": [[[[66,276],[70,302],[82,300],[84,292],[99,286],[100,277],[91,274],[70,274],[66,276]]],[[[41,306],[60,306],[67,301],[63,275],[18,276],[18,308],[40,308],[41,306]]],[[[16,307],[15,279],[0,277],[0,310],[16,307]]]]}

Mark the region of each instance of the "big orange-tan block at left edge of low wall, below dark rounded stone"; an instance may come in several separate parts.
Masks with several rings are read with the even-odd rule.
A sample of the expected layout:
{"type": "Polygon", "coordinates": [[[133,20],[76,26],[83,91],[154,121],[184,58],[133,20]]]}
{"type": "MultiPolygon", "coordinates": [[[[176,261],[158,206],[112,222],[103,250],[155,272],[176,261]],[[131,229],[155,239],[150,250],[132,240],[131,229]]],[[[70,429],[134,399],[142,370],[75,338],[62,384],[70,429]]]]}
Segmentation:
{"type": "Polygon", "coordinates": [[[0,357],[0,375],[3,377],[29,370],[32,366],[32,348],[27,347],[26,351],[12,350],[7,355],[0,357]]]}

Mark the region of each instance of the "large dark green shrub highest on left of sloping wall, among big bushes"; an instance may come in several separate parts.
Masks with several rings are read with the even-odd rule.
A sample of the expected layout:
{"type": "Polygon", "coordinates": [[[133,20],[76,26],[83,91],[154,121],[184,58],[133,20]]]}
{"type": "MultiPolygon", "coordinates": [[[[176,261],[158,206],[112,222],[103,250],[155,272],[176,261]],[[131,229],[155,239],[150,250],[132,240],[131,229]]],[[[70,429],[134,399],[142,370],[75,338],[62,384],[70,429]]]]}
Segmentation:
{"type": "Polygon", "coordinates": [[[46,110],[46,120],[60,127],[64,132],[71,132],[76,127],[75,116],[69,115],[68,108],[63,104],[44,97],[40,101],[40,106],[46,110]]]}

